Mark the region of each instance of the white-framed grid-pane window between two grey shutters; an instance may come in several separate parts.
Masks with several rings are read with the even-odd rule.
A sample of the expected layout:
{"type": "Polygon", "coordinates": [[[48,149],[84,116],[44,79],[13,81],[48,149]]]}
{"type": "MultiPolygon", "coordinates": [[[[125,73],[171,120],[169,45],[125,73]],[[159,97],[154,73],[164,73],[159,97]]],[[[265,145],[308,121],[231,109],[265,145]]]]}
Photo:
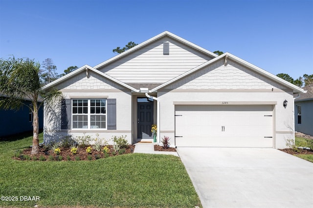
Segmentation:
{"type": "Polygon", "coordinates": [[[72,100],[73,129],[106,129],[106,99],[72,100]]]}

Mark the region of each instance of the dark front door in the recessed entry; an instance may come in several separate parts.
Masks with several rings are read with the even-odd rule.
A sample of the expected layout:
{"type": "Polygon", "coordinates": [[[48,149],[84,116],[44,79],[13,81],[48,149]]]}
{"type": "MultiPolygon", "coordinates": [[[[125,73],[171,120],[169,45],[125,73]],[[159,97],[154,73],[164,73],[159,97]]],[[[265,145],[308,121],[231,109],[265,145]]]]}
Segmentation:
{"type": "Polygon", "coordinates": [[[152,124],[153,124],[153,102],[138,102],[137,103],[138,139],[152,139],[151,132],[152,124]]]}

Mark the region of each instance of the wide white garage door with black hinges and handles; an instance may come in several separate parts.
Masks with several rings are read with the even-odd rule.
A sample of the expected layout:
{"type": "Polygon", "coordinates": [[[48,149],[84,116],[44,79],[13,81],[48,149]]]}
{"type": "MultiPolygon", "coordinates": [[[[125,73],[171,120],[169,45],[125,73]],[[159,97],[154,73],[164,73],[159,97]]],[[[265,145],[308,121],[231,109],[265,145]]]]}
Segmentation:
{"type": "Polygon", "coordinates": [[[178,147],[273,147],[270,105],[176,105],[178,147]]]}

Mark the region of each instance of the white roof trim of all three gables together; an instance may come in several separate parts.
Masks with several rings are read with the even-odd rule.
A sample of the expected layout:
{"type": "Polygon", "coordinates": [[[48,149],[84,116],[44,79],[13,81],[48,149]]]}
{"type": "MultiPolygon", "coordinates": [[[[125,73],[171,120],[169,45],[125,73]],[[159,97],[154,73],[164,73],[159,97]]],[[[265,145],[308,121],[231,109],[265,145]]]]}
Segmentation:
{"type": "Polygon", "coordinates": [[[205,49],[203,49],[203,48],[201,48],[201,47],[199,47],[199,46],[197,46],[197,45],[195,45],[195,44],[193,44],[193,43],[191,43],[191,42],[189,42],[189,41],[187,41],[187,40],[185,40],[183,38],[180,38],[180,37],[178,37],[178,36],[168,32],[168,31],[165,31],[165,32],[163,32],[163,33],[153,37],[153,38],[150,38],[150,39],[140,43],[139,45],[136,45],[135,47],[133,47],[133,48],[131,48],[131,49],[129,49],[129,50],[127,50],[127,51],[125,51],[125,52],[115,56],[115,57],[112,57],[112,58],[110,58],[107,61],[104,61],[104,62],[96,65],[95,67],[91,67],[89,65],[85,65],[85,66],[83,66],[83,67],[81,67],[81,68],[79,68],[79,69],[77,69],[77,70],[67,74],[66,76],[63,76],[63,77],[61,77],[61,78],[59,78],[59,79],[57,79],[57,80],[55,80],[55,81],[45,85],[42,89],[45,90],[45,89],[48,89],[50,87],[53,87],[53,86],[55,86],[55,85],[65,81],[65,80],[67,80],[68,78],[70,78],[72,76],[75,76],[75,75],[78,75],[79,73],[81,73],[84,70],[88,69],[88,70],[92,71],[93,73],[96,73],[96,74],[98,74],[100,76],[103,76],[103,77],[113,81],[114,83],[117,83],[117,84],[119,84],[119,85],[121,85],[121,86],[123,86],[123,87],[125,87],[127,89],[130,89],[130,90],[134,91],[134,92],[139,92],[140,91],[139,90],[140,87],[145,87],[146,88],[147,86],[149,86],[149,88],[153,88],[152,90],[149,90],[149,92],[156,92],[158,89],[161,89],[161,88],[163,88],[165,86],[168,86],[168,85],[174,83],[175,81],[178,81],[179,79],[182,79],[182,78],[184,78],[186,76],[189,76],[192,73],[195,73],[195,72],[203,69],[204,67],[207,67],[207,66],[213,64],[216,61],[219,61],[219,60],[222,60],[222,59],[228,59],[228,58],[233,60],[233,61],[235,61],[235,62],[237,62],[237,63],[239,63],[239,64],[241,64],[241,65],[243,65],[243,66],[245,66],[246,68],[248,68],[248,69],[250,69],[250,70],[252,70],[252,71],[254,71],[254,72],[258,73],[258,74],[261,74],[262,76],[265,76],[265,77],[269,78],[270,80],[276,81],[277,83],[279,83],[279,84],[281,84],[283,86],[286,86],[289,89],[292,89],[294,93],[304,93],[304,90],[302,88],[299,88],[299,87],[291,84],[290,82],[288,82],[288,81],[286,81],[286,80],[284,80],[282,78],[279,78],[279,77],[277,77],[275,75],[272,75],[272,74],[268,73],[267,71],[265,71],[265,70],[255,66],[255,65],[253,65],[253,64],[251,64],[251,63],[249,63],[249,62],[247,62],[247,61],[245,61],[245,60],[243,60],[243,59],[241,59],[239,57],[236,57],[236,56],[234,56],[234,55],[232,55],[230,53],[224,53],[223,55],[218,56],[218,55],[213,54],[212,52],[209,52],[209,51],[207,51],[207,50],[205,50],[205,49]],[[177,77],[175,77],[175,78],[173,78],[173,79],[171,79],[171,80],[169,80],[167,82],[165,82],[165,83],[159,83],[159,84],[154,83],[153,85],[151,85],[151,84],[149,85],[149,83],[146,83],[146,85],[145,85],[145,83],[140,83],[140,84],[124,83],[124,82],[122,82],[122,81],[120,81],[120,80],[118,80],[116,78],[113,78],[112,76],[109,76],[109,75],[107,75],[105,73],[102,73],[101,71],[98,70],[99,68],[104,67],[104,66],[112,63],[113,61],[121,59],[121,58],[123,58],[125,56],[128,56],[131,53],[134,53],[135,51],[137,51],[139,49],[142,49],[143,47],[153,43],[154,41],[156,41],[156,40],[158,40],[160,38],[164,38],[164,37],[172,38],[172,39],[174,39],[174,40],[176,40],[176,41],[178,41],[178,42],[180,42],[180,43],[182,43],[184,45],[187,45],[188,47],[191,47],[191,48],[193,48],[193,49],[195,49],[195,50],[197,50],[197,51],[199,51],[199,52],[209,56],[209,57],[213,57],[213,59],[211,59],[211,60],[209,60],[209,61],[207,61],[207,62],[205,62],[205,63],[203,63],[203,64],[201,64],[201,65],[199,65],[199,66],[197,66],[197,67],[195,67],[195,68],[193,68],[193,69],[191,69],[191,70],[189,70],[189,71],[187,71],[187,72],[185,72],[185,73],[183,73],[183,74],[181,74],[181,75],[179,75],[179,76],[177,76],[177,77]]]}

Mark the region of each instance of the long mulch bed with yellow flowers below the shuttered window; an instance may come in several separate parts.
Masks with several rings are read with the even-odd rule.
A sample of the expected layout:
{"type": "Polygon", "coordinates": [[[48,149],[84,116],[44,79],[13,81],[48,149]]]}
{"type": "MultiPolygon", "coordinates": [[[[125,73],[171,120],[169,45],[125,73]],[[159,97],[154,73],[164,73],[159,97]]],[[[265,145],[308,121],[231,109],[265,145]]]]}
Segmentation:
{"type": "MultiPolygon", "coordinates": [[[[112,145],[108,145],[108,148],[110,149],[110,153],[109,153],[109,156],[115,156],[115,155],[119,155],[118,152],[116,152],[115,155],[112,154],[113,152],[113,149],[112,149],[112,145]]],[[[80,160],[89,160],[88,158],[88,155],[91,155],[92,159],[91,160],[96,160],[96,155],[100,156],[100,158],[104,158],[104,153],[101,151],[101,152],[98,152],[94,149],[92,149],[91,153],[87,153],[86,152],[86,149],[87,147],[78,147],[77,149],[77,153],[76,154],[72,154],[70,152],[70,147],[68,148],[60,148],[61,152],[59,154],[63,156],[63,161],[67,161],[67,155],[70,157],[70,160],[76,160],[76,157],[79,157],[80,160]]],[[[103,149],[103,148],[102,148],[103,149]]],[[[129,145],[127,148],[125,148],[125,152],[122,153],[122,154],[128,154],[128,153],[133,153],[134,152],[134,149],[135,149],[135,146],[134,145],[129,145]]],[[[24,155],[23,157],[14,157],[15,159],[17,160],[25,160],[25,155],[28,155],[30,156],[31,158],[33,158],[33,156],[36,156],[39,160],[39,158],[41,157],[41,155],[43,155],[45,158],[46,158],[46,161],[49,161],[51,160],[49,158],[50,155],[52,155],[54,157],[54,160],[55,158],[58,156],[57,154],[55,154],[52,150],[49,150],[49,149],[46,149],[45,147],[40,147],[40,151],[38,154],[35,154],[35,155],[32,155],[31,154],[31,148],[28,148],[28,149],[25,149],[23,152],[22,152],[22,155],[24,155]]]]}

